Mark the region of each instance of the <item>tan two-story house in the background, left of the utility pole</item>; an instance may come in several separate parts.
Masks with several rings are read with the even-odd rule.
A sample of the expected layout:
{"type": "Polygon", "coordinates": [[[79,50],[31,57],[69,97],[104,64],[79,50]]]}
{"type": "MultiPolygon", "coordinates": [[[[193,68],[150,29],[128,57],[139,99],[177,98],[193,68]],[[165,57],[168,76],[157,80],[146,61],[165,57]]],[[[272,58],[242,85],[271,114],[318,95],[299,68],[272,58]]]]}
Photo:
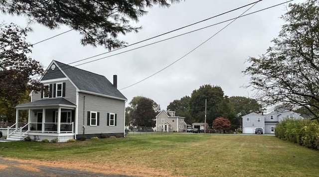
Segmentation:
{"type": "Polygon", "coordinates": [[[155,118],[157,132],[186,132],[185,118],[176,116],[175,111],[161,110],[155,118]]]}

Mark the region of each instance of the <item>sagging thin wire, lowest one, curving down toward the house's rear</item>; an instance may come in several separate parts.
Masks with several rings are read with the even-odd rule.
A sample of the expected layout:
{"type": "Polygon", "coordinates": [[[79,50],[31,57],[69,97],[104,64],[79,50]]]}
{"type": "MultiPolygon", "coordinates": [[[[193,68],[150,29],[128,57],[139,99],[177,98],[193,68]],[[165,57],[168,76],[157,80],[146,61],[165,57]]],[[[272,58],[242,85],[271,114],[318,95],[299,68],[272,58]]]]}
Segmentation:
{"type": "Polygon", "coordinates": [[[251,9],[253,6],[255,6],[259,1],[255,2],[251,7],[249,7],[247,10],[245,10],[242,14],[240,14],[238,17],[236,17],[235,19],[233,19],[231,22],[229,22],[226,26],[224,26],[223,28],[221,28],[219,31],[217,31],[215,34],[213,34],[212,36],[210,36],[208,39],[206,39],[204,42],[200,43],[198,46],[196,46],[195,48],[193,48],[192,50],[190,50],[188,53],[186,53],[185,55],[183,55],[182,57],[180,57],[179,59],[175,60],[174,62],[172,62],[171,64],[167,65],[166,67],[164,67],[163,69],[159,70],[158,72],[140,80],[139,82],[136,82],[132,85],[129,85],[127,87],[124,87],[122,89],[119,90],[123,90],[123,89],[127,89],[129,87],[132,87],[140,82],[145,81],[146,79],[155,76],[156,74],[160,73],[161,71],[163,71],[164,69],[168,68],[169,66],[173,65],[174,63],[176,63],[177,61],[183,59],[185,56],[187,56],[188,54],[190,54],[191,52],[195,51],[197,48],[199,48],[201,45],[203,45],[204,43],[206,43],[208,40],[210,40],[211,38],[213,38],[215,35],[217,35],[219,32],[221,32],[222,30],[224,30],[227,26],[229,26],[231,23],[233,23],[237,18],[239,18],[241,15],[243,15],[244,13],[246,13],[249,9],[251,9]]]}

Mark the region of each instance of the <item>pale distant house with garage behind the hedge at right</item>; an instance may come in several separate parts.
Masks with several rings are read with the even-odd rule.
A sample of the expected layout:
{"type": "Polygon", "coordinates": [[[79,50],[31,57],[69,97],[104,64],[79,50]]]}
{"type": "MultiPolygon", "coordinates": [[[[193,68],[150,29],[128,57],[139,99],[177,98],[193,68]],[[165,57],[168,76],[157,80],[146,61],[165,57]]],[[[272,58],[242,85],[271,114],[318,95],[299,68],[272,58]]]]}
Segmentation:
{"type": "Polygon", "coordinates": [[[265,115],[253,112],[242,118],[243,133],[255,133],[255,129],[260,127],[266,134],[274,134],[276,125],[284,119],[304,119],[299,113],[289,110],[273,111],[265,115]]]}

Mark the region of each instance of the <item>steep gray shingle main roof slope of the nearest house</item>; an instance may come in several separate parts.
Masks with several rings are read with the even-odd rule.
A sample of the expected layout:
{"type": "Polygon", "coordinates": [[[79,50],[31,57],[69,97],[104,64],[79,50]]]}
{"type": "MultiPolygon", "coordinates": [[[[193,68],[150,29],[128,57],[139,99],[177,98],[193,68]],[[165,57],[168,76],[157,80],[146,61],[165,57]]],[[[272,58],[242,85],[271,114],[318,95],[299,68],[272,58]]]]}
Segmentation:
{"type": "Polygon", "coordinates": [[[54,61],[78,89],[127,100],[105,76],[54,61]]]}

